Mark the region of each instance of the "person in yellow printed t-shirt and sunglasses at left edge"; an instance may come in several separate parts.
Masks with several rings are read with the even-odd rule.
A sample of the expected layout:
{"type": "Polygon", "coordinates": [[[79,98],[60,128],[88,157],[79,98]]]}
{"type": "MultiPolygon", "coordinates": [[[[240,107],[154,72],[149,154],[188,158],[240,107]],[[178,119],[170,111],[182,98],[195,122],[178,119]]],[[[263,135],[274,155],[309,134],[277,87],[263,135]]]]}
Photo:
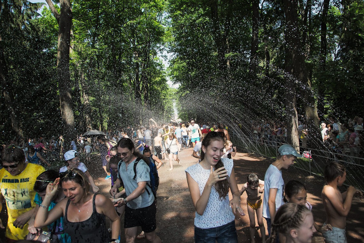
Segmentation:
{"type": "MultiPolygon", "coordinates": [[[[35,208],[33,189],[35,180],[44,168],[41,165],[25,163],[23,149],[16,146],[7,148],[2,156],[0,170],[0,202],[5,198],[8,224],[5,231],[6,242],[22,240],[28,234],[28,220],[35,208]]],[[[0,211],[3,204],[0,203],[0,211]]],[[[0,228],[4,228],[0,219],[0,228]]]]}

